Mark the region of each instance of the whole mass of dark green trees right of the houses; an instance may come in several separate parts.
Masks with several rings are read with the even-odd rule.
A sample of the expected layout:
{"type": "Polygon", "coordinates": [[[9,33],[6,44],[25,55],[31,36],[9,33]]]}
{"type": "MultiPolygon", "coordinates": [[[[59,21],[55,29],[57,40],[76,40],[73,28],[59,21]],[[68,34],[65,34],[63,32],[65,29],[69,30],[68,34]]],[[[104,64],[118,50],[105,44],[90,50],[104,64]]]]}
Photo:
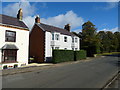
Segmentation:
{"type": "Polygon", "coordinates": [[[104,52],[120,51],[120,32],[99,31],[88,21],[82,25],[82,32],[75,35],[81,38],[80,47],[87,51],[87,56],[104,52]]]}

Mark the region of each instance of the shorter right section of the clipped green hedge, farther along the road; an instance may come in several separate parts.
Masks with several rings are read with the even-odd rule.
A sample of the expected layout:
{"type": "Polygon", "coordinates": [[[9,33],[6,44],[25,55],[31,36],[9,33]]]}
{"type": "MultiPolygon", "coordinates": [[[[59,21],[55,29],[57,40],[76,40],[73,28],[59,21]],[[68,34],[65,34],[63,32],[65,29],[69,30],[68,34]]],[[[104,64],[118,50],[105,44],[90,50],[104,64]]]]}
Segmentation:
{"type": "Polygon", "coordinates": [[[86,58],[86,51],[80,50],[80,51],[74,51],[74,60],[81,60],[86,58]]]}

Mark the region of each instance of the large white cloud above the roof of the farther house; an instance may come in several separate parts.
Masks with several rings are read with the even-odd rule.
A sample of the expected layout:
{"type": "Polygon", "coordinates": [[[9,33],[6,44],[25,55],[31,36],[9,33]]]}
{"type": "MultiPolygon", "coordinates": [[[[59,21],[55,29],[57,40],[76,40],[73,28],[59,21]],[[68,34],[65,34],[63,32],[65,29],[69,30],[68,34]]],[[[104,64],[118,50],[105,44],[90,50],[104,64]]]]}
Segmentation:
{"type": "Polygon", "coordinates": [[[69,23],[71,28],[74,29],[78,26],[81,26],[84,23],[84,20],[82,17],[77,16],[77,14],[73,11],[68,11],[66,14],[59,14],[47,19],[41,18],[41,22],[61,28],[63,28],[65,24],[69,23]]]}

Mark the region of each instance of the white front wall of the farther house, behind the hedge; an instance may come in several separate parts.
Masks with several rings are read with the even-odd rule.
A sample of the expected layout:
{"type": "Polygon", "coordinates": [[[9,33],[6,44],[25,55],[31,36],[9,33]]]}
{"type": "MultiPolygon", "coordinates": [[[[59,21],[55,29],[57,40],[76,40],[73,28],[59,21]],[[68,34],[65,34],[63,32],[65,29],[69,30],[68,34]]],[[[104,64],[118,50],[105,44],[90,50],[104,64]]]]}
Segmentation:
{"type": "Polygon", "coordinates": [[[64,35],[58,32],[45,32],[45,61],[52,60],[52,49],[63,49],[72,50],[72,44],[74,44],[74,50],[77,48],[79,50],[79,38],[77,38],[77,43],[72,43],[72,36],[64,35]],[[52,33],[54,33],[54,40],[52,40],[52,33]],[[55,35],[59,35],[59,40],[56,40],[55,35]],[[67,37],[67,42],[64,42],[64,37],[67,37]]]}

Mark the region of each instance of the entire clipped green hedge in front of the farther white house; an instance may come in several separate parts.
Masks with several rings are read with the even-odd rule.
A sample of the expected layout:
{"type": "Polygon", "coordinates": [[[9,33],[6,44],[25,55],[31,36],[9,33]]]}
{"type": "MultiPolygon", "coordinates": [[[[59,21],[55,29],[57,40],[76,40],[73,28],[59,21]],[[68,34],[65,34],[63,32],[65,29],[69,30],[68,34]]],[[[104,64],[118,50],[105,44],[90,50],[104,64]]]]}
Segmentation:
{"type": "Polygon", "coordinates": [[[53,50],[53,63],[76,61],[86,58],[86,51],[53,50]]]}

